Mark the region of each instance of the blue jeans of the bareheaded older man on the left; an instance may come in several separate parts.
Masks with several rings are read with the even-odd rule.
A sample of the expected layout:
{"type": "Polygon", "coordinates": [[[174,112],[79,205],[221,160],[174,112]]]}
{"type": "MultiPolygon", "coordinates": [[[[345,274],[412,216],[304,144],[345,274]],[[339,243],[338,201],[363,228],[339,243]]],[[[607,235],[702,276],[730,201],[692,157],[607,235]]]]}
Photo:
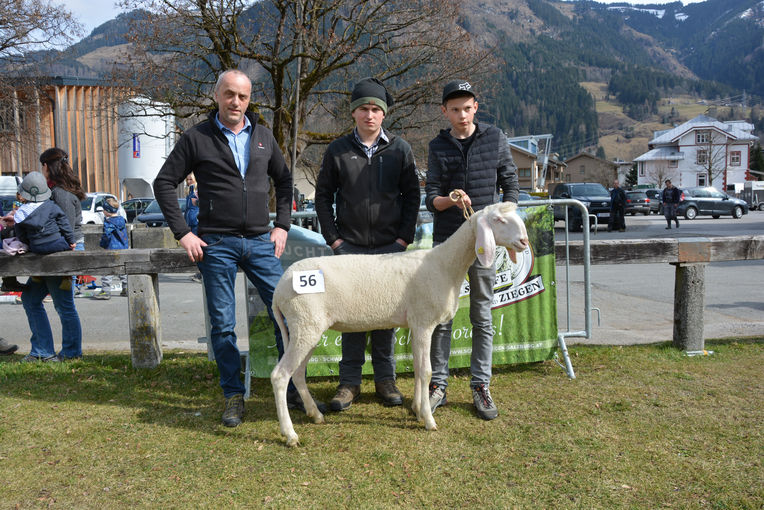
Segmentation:
{"type": "MultiPolygon", "coordinates": [[[[273,291],[283,274],[281,262],[274,254],[270,233],[239,237],[205,234],[202,240],[204,257],[199,262],[204,291],[207,293],[207,313],[210,318],[210,341],[220,371],[220,387],[229,398],[244,394],[241,381],[241,355],[236,345],[236,272],[244,271],[265,303],[276,330],[279,359],[284,354],[281,331],[274,321],[271,305],[273,291]]],[[[293,386],[290,383],[290,389],[293,386]]]]}

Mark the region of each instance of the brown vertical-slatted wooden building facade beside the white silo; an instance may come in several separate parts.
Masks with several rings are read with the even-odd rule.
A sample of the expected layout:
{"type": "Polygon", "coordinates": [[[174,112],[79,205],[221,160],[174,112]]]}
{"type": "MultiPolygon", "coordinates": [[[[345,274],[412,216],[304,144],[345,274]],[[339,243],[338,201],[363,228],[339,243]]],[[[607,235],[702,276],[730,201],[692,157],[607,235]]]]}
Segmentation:
{"type": "Polygon", "coordinates": [[[117,105],[125,93],[97,80],[53,77],[3,94],[0,173],[39,171],[40,153],[59,147],[85,191],[120,196],[117,105]]]}

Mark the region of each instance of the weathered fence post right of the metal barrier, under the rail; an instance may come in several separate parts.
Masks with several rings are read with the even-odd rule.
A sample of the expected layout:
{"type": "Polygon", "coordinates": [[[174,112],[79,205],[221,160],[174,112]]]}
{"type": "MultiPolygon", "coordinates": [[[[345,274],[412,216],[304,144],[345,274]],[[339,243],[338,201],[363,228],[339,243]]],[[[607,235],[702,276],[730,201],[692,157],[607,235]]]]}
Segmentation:
{"type": "Polygon", "coordinates": [[[706,264],[676,264],[674,281],[674,346],[702,351],[706,264]]]}

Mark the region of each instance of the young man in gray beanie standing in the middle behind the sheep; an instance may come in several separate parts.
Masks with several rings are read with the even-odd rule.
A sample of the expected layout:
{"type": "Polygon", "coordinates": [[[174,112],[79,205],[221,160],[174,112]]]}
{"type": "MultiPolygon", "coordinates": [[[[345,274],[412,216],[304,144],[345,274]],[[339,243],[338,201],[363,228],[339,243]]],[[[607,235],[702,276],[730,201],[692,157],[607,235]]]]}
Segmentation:
{"type": "MultiPolygon", "coordinates": [[[[419,179],[411,147],[382,129],[393,98],[376,78],[364,78],[350,97],[352,133],[326,149],[316,182],[316,213],[321,233],[335,254],[395,253],[414,240],[419,211],[419,179]],[[336,212],[333,207],[336,202],[336,212]]],[[[395,335],[369,332],[376,395],[399,406],[395,385],[395,335]]],[[[340,381],[329,407],[342,411],[361,394],[367,332],[342,334],[340,381]]]]}

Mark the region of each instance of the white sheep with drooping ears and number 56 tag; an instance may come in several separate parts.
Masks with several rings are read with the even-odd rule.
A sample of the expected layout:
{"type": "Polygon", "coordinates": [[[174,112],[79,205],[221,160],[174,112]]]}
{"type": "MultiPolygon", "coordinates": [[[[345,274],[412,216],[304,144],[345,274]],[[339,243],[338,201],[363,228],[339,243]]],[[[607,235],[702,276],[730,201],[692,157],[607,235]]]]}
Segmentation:
{"type": "Polygon", "coordinates": [[[415,380],[412,409],[427,430],[436,430],[427,388],[432,376],[432,331],[456,314],[459,288],[476,255],[481,264],[489,266],[497,244],[509,250],[512,260],[515,251],[526,249],[528,234],[515,210],[516,205],[509,202],[488,206],[431,250],[315,257],[287,269],[273,294],[284,356],[271,372],[276,412],[287,445],[298,443],[286,402],[290,377],[306,414],[314,423],[324,422],[305,384],[305,366],[327,329],[355,332],[409,327],[415,380]],[[295,272],[313,270],[322,272],[325,291],[297,293],[293,288],[295,272]]]}

